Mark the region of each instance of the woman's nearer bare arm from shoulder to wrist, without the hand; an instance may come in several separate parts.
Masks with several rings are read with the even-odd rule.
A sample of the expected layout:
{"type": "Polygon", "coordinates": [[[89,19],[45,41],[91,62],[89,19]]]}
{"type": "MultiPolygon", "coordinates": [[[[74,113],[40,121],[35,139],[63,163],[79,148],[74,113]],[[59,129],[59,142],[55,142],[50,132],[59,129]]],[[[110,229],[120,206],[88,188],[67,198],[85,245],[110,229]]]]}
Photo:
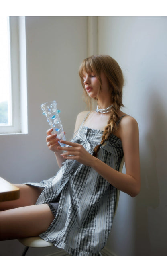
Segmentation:
{"type": "Polygon", "coordinates": [[[120,173],[106,164],[104,167],[104,163],[98,159],[92,162],[92,168],[110,184],[131,197],[135,197],[140,191],[139,135],[136,120],[132,117],[122,119],[117,135],[122,141],[126,174],[120,173]]]}

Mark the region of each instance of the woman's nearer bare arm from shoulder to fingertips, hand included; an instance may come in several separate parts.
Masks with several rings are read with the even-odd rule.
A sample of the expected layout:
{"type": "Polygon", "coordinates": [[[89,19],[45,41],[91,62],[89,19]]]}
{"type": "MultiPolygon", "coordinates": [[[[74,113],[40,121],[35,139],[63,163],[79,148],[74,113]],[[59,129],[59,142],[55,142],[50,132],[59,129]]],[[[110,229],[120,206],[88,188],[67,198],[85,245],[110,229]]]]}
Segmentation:
{"type": "MultiPolygon", "coordinates": [[[[76,143],[62,141],[62,143],[70,147],[68,148],[68,152],[61,154],[61,156],[65,159],[75,159],[82,164],[94,168],[110,184],[135,197],[140,191],[139,136],[136,120],[129,116],[122,119],[117,135],[122,141],[126,174],[114,170],[98,158],[89,154],[82,145],[76,143]]],[[[64,148],[58,147],[57,149],[62,150],[64,148]]]]}

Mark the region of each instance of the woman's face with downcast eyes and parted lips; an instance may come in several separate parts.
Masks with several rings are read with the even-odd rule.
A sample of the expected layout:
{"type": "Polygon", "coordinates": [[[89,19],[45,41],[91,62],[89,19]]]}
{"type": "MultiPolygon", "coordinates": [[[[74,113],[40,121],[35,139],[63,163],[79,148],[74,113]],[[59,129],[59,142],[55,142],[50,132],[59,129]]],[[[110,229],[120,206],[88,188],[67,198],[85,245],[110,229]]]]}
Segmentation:
{"type": "Polygon", "coordinates": [[[108,80],[104,73],[101,73],[101,80],[102,80],[102,90],[100,91],[100,94],[98,95],[98,92],[100,90],[100,82],[97,78],[97,76],[92,72],[90,74],[84,73],[83,74],[83,83],[85,85],[85,89],[88,93],[88,95],[91,98],[98,98],[102,96],[106,96],[110,92],[110,87],[108,84],[108,80]]]}

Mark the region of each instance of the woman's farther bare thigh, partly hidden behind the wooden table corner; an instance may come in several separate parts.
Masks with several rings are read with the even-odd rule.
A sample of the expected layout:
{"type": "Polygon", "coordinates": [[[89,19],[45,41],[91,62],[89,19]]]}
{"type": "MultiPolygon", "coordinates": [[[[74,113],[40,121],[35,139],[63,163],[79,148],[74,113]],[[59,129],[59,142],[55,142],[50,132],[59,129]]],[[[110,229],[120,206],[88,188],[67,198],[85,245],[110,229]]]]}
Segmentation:
{"type": "Polygon", "coordinates": [[[35,205],[43,188],[29,186],[26,184],[14,184],[20,188],[20,197],[17,200],[0,202],[0,211],[23,207],[27,205],[35,205]]]}

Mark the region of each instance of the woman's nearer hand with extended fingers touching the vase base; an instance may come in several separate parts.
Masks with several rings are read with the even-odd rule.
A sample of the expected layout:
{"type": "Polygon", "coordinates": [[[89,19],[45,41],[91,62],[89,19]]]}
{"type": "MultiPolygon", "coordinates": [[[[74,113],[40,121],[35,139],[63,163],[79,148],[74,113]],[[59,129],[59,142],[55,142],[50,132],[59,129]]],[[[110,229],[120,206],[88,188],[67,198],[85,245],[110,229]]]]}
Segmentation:
{"type": "Polygon", "coordinates": [[[57,150],[64,150],[66,152],[62,153],[61,156],[65,159],[77,160],[81,164],[86,166],[91,166],[94,156],[92,156],[86,149],[77,143],[61,140],[61,143],[68,145],[69,147],[57,147],[57,150]]]}

